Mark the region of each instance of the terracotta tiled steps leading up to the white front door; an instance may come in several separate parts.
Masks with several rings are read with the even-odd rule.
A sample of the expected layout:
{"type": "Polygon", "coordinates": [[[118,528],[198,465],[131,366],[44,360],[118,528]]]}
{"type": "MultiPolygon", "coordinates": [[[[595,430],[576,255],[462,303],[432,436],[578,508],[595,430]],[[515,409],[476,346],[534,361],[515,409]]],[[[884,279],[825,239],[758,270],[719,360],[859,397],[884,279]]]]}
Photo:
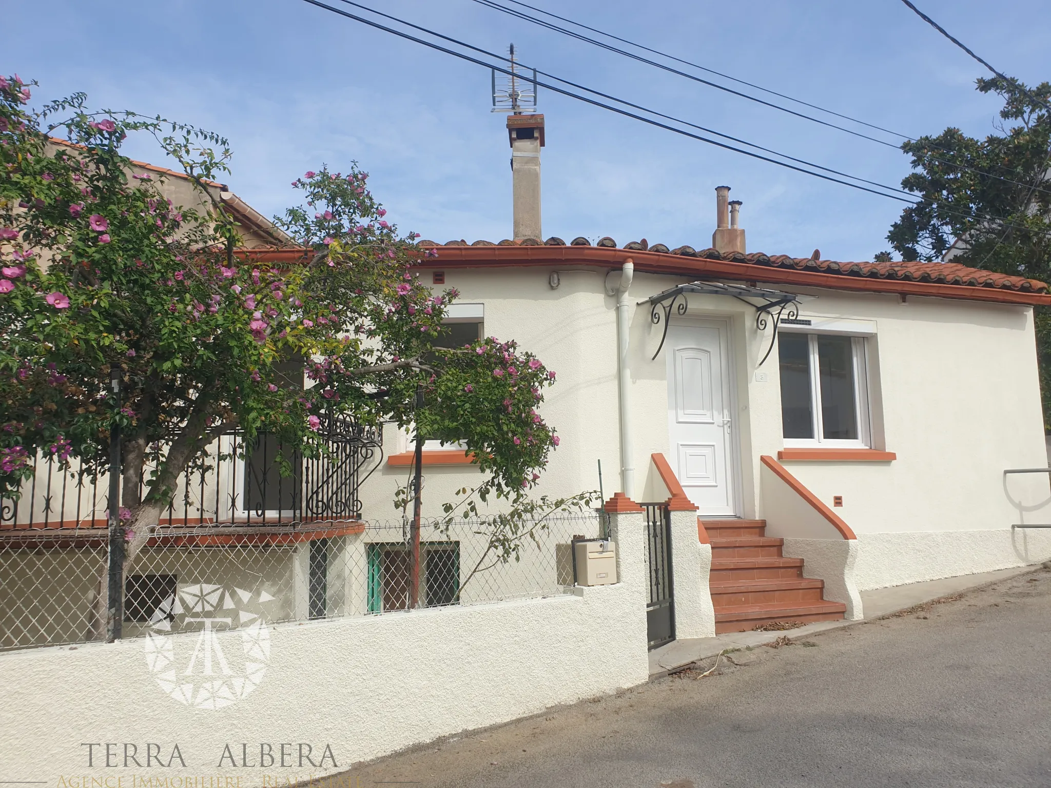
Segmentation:
{"type": "Polygon", "coordinates": [[[824,580],[803,577],[802,558],[781,555],[783,539],[765,536],[766,520],[703,520],[712,542],[708,584],[716,633],[774,621],[837,621],[846,605],[827,602],[824,580]]]}

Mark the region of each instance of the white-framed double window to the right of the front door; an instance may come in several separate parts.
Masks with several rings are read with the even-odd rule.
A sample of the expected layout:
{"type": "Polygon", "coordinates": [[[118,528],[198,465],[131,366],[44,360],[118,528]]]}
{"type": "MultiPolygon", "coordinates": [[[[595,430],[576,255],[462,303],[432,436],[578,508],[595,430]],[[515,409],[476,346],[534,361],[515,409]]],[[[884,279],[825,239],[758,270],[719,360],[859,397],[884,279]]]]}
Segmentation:
{"type": "Polygon", "coordinates": [[[785,448],[872,445],[865,337],[778,336],[785,448]]]}

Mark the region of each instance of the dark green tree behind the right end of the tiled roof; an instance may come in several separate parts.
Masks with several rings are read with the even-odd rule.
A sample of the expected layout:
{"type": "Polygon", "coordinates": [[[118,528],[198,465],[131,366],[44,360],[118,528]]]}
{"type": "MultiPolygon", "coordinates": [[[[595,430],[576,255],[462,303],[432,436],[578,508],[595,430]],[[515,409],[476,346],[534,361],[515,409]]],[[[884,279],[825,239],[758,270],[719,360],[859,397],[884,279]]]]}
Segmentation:
{"type": "MultiPolygon", "coordinates": [[[[902,211],[887,240],[906,261],[941,260],[956,242],[953,263],[1051,282],[1051,84],[980,79],[977,89],[1004,99],[998,133],[978,140],[947,128],[902,145],[914,169],[902,186],[920,202],[902,211]]],[[[1034,312],[1051,430],[1051,314],[1034,312]]]]}

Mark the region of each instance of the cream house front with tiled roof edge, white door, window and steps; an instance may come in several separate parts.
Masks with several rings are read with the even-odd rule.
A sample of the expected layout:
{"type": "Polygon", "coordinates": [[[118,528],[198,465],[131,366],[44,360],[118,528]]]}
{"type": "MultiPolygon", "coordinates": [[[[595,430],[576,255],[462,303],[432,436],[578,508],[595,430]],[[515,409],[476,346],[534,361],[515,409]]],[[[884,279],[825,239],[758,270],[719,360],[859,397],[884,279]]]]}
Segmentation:
{"type": "MultiPolygon", "coordinates": [[[[437,251],[425,264],[444,283],[435,290],[460,292],[454,319],[517,340],[557,373],[543,414],[561,442],[540,492],[598,489],[600,460],[606,497],[696,509],[716,613],[721,601],[768,614],[717,615],[721,630],[861,618],[858,590],[1051,556],[1047,531],[1018,527],[1051,522],[1047,474],[1005,473],[1047,468],[1040,283],[610,239],[424,245],[437,251]],[[734,563],[764,558],[802,558],[798,575],[824,580],[823,597],[808,595],[812,615],[789,604],[806,584],[775,582],[795,566],[734,563]],[[717,577],[744,596],[720,599],[717,577]]],[[[389,430],[384,448],[366,518],[390,512],[411,462],[404,433],[389,430]]],[[[425,514],[477,474],[455,449],[425,451],[424,465],[425,514]]],[[[678,596],[691,569],[675,567],[678,596]]],[[[677,628],[710,634],[683,616],[677,628]]]]}

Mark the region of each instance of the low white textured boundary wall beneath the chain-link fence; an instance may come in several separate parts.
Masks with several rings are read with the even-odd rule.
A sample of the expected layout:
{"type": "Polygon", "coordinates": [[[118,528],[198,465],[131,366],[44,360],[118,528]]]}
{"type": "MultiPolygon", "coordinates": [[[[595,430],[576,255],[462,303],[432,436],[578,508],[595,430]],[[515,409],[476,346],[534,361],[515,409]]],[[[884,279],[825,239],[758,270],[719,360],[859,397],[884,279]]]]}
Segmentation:
{"type": "Polygon", "coordinates": [[[266,676],[221,709],[169,698],[147,668],[142,639],[0,655],[0,773],[53,788],[91,788],[91,779],[103,780],[101,788],[144,788],[139,777],[169,780],[153,788],[285,786],[640,684],[648,678],[642,517],[612,517],[621,565],[616,585],[274,626],[266,676]],[[116,744],[120,766],[100,768],[104,751],[95,748],[88,768],[81,743],[116,744]],[[165,760],[178,744],[186,767],[176,760],[169,768],[124,768],[125,743],[138,746],[140,760],[148,743],[159,744],[165,760]],[[291,765],[231,768],[227,761],[217,768],[226,744],[239,762],[247,744],[249,762],[257,762],[264,743],[275,754],[290,744],[291,765]],[[337,768],[328,761],[325,768],[300,768],[300,743],[312,747],[315,761],[329,745],[337,768]],[[208,782],[217,775],[223,781],[208,782]],[[170,782],[176,777],[198,782],[170,782]]]}

